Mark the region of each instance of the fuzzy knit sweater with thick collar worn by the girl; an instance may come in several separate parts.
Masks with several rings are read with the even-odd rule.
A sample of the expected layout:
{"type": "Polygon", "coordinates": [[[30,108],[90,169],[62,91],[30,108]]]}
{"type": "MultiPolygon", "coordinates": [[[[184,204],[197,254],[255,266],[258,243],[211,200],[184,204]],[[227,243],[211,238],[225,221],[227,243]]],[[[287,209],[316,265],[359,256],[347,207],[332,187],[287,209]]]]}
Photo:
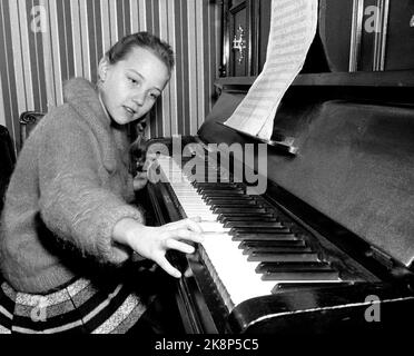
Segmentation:
{"type": "Polygon", "coordinates": [[[95,87],[69,80],[65,103],[38,123],[19,155],[1,217],[0,267],[26,293],[79,276],[79,261],[120,266],[112,240],[122,218],[144,222],[128,172],[126,128],[106,115],[95,87]]]}

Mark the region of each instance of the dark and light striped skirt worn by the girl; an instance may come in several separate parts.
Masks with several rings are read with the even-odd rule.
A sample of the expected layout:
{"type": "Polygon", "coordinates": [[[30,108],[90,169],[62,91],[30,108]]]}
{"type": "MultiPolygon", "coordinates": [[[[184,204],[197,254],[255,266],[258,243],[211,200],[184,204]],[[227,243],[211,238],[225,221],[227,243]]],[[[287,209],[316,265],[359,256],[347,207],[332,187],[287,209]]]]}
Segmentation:
{"type": "Polygon", "coordinates": [[[47,295],[0,288],[0,334],[124,334],[146,310],[127,284],[79,278],[47,295]]]}

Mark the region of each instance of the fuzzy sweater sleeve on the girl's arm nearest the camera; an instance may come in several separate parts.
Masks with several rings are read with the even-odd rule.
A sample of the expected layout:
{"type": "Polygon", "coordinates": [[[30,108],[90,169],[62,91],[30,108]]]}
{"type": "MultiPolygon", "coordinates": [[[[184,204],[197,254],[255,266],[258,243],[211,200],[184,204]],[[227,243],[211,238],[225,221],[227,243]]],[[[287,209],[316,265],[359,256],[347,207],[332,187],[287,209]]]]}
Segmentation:
{"type": "Polygon", "coordinates": [[[46,226],[83,256],[125,261],[128,255],[115,245],[114,227],[124,218],[142,222],[142,215],[101,186],[102,152],[87,123],[57,119],[45,127],[39,146],[40,214],[46,226]]]}

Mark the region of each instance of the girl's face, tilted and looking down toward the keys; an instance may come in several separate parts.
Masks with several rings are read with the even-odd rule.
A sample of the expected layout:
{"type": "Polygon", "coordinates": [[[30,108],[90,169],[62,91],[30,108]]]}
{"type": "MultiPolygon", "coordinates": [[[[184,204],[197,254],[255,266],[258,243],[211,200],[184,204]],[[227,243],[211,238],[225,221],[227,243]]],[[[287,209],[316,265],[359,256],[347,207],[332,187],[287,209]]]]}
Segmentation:
{"type": "Polygon", "coordinates": [[[122,59],[99,63],[100,96],[109,116],[119,125],[144,117],[169,80],[167,66],[151,51],[135,47],[122,59]]]}

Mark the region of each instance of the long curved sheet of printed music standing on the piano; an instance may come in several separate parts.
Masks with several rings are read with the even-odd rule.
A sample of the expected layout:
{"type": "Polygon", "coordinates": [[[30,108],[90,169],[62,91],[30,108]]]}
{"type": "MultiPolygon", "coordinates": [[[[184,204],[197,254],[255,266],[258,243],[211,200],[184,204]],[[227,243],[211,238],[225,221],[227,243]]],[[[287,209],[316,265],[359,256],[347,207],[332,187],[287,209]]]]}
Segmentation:
{"type": "Polygon", "coordinates": [[[277,107],[300,71],[316,33],[317,0],[273,0],[263,71],[225,125],[269,140],[277,107]]]}

